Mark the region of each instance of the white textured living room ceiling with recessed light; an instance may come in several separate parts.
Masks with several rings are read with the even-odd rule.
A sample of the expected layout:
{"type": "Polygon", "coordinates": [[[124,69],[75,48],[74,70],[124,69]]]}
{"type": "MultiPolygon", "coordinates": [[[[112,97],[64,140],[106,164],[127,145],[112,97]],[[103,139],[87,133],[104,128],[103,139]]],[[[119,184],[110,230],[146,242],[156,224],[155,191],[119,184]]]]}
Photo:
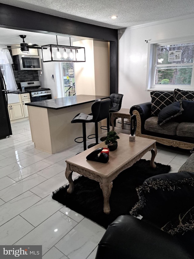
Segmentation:
{"type": "Polygon", "coordinates": [[[194,13],[193,0],[0,0],[0,3],[113,29],[194,13]],[[118,18],[113,20],[112,15],[118,18]]]}

